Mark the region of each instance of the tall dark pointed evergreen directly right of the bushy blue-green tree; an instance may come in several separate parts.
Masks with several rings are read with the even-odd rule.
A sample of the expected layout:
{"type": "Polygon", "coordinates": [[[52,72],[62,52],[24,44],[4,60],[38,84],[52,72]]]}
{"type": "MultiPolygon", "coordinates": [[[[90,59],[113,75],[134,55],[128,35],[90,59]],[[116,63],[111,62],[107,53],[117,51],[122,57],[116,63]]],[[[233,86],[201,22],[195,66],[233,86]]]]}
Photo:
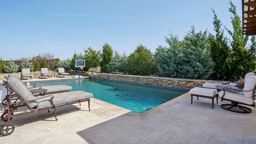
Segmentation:
{"type": "Polygon", "coordinates": [[[230,48],[228,46],[228,38],[224,36],[224,30],[221,28],[222,24],[215,11],[212,10],[212,12],[214,14],[213,25],[216,35],[209,34],[210,52],[214,62],[211,78],[214,80],[229,80],[230,48]]]}

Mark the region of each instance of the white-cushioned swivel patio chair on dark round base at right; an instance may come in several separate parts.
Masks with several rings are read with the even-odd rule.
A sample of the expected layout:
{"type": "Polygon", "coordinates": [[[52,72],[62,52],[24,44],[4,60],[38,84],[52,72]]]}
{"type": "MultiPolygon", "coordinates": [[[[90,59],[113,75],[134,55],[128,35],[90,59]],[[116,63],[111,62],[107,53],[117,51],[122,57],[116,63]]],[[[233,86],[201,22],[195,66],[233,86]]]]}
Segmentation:
{"type": "MultiPolygon", "coordinates": [[[[252,110],[246,106],[253,106],[255,108],[256,96],[256,75],[250,75],[246,78],[242,92],[230,92],[232,88],[224,88],[220,91],[221,101],[226,100],[232,102],[231,104],[222,104],[221,108],[238,113],[249,114],[252,110]],[[229,89],[229,91],[227,91],[229,89]],[[244,104],[246,106],[242,106],[244,104]]],[[[233,88],[232,90],[236,90],[233,88]]]]}

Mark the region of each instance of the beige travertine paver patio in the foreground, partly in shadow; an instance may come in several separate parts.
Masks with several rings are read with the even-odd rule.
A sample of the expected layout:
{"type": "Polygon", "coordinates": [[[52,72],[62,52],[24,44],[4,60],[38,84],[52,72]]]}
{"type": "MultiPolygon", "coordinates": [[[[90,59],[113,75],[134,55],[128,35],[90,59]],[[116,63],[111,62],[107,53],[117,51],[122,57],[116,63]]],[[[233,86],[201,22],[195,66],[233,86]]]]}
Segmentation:
{"type": "MultiPolygon", "coordinates": [[[[190,93],[143,114],[91,100],[53,110],[13,118],[15,131],[1,136],[1,144],[255,144],[256,109],[238,114],[211,108],[211,100],[190,104],[190,93]]],[[[1,106],[1,112],[3,112],[1,106]]],[[[2,123],[1,123],[2,124],[2,123]]]]}

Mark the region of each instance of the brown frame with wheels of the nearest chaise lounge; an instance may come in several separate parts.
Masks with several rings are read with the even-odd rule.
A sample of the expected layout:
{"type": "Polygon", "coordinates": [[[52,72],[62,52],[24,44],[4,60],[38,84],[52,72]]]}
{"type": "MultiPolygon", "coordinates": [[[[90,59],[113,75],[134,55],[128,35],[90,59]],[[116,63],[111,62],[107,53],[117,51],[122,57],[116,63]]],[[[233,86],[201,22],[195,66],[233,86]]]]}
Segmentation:
{"type": "Polygon", "coordinates": [[[7,124],[3,125],[1,128],[0,128],[0,134],[2,136],[8,136],[10,135],[13,131],[14,131],[14,125],[10,124],[10,120],[13,118],[13,117],[16,117],[16,116],[22,116],[22,115],[25,115],[25,114],[30,114],[30,113],[36,113],[37,111],[42,111],[42,110],[48,110],[49,112],[49,109],[54,109],[54,116],[55,116],[55,119],[57,119],[57,107],[61,107],[61,106],[66,106],[66,105],[70,105],[70,104],[76,104],[76,103],[79,103],[80,106],[81,106],[81,102],[86,102],[88,101],[88,108],[89,108],[89,111],[90,111],[90,98],[86,99],[86,100],[78,100],[76,102],[69,102],[69,103],[65,103],[65,104],[59,104],[59,105],[55,105],[53,103],[53,99],[54,99],[54,96],[52,95],[46,95],[46,96],[42,96],[40,98],[36,98],[34,100],[38,100],[38,99],[41,99],[41,98],[45,98],[45,97],[51,97],[51,103],[52,103],[52,106],[50,107],[47,107],[47,108],[42,108],[42,109],[32,109],[30,108],[26,102],[29,102],[29,101],[23,101],[19,96],[18,94],[16,94],[12,88],[10,88],[10,86],[8,86],[8,84],[6,83],[5,80],[3,80],[3,85],[6,86],[7,90],[9,91],[8,94],[10,97],[17,97],[17,100],[20,100],[20,102],[17,102],[17,100],[15,100],[15,102],[13,103],[9,103],[8,101],[4,102],[7,107],[5,108],[6,110],[4,111],[4,113],[2,114],[1,116],[1,120],[0,122],[2,121],[7,121],[7,124]],[[13,94],[13,95],[12,95],[13,94]],[[18,114],[14,114],[14,111],[17,110],[18,107],[22,107],[22,106],[26,106],[26,108],[28,108],[28,112],[21,112],[21,113],[18,113],[18,114]],[[9,128],[9,127],[12,127],[12,128],[9,128]],[[5,129],[4,129],[5,128],[5,129]],[[9,132],[11,130],[11,132],[9,132]],[[6,132],[6,133],[3,133],[3,132],[6,132]],[[9,133],[8,133],[9,132],[9,133]]]}

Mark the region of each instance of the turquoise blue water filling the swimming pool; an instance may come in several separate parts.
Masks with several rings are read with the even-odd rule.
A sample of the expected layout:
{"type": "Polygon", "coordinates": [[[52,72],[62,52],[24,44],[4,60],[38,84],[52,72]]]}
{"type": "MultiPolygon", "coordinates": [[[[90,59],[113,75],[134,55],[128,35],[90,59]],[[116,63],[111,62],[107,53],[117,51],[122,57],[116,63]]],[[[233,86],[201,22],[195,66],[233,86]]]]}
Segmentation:
{"type": "MultiPolygon", "coordinates": [[[[36,84],[36,86],[65,84],[72,86],[72,91],[84,90],[86,92],[91,92],[94,98],[138,113],[143,113],[186,93],[184,90],[140,86],[136,84],[100,79],[30,82],[30,84],[36,84]]],[[[6,89],[4,86],[0,86],[0,90],[3,91],[3,99],[6,95],[6,89]]]]}

